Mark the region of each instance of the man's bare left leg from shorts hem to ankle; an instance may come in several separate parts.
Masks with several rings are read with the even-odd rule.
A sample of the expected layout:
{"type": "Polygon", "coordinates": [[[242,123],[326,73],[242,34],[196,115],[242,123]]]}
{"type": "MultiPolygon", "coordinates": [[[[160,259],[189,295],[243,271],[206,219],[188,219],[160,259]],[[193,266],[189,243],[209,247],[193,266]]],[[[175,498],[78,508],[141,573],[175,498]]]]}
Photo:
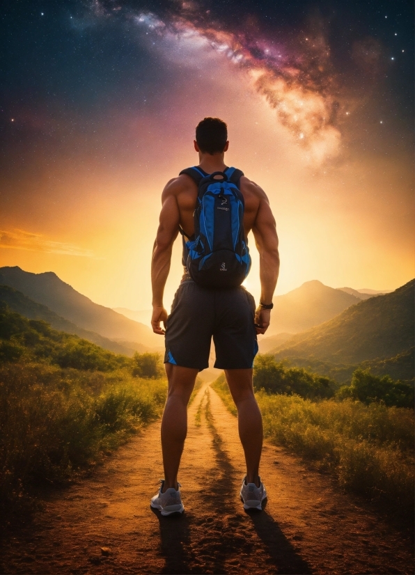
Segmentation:
{"type": "Polygon", "coordinates": [[[178,489],[177,479],[187,435],[187,404],[198,370],[165,363],[169,392],[162,419],[164,491],[178,489]]]}

